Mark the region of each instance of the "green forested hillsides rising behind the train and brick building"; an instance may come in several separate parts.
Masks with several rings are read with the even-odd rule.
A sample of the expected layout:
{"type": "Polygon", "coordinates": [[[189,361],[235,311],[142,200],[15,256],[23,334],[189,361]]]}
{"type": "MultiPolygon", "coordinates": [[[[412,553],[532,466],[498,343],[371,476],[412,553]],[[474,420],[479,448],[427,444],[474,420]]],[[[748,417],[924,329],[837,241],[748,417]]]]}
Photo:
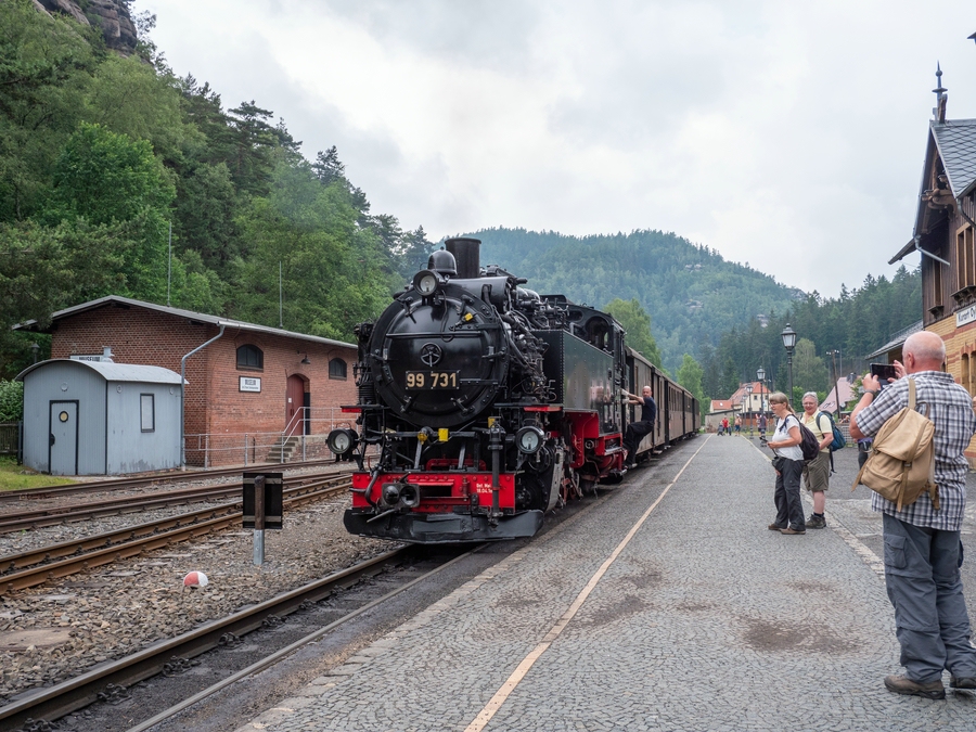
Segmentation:
{"type": "MultiPolygon", "coordinates": [[[[131,18],[138,38],[123,53],[76,15],[0,2],[0,377],[30,363],[35,341],[49,352],[11,325],[108,294],[351,341],[425,266],[435,244],[423,228],[373,210],[334,146],[306,156],[273,111],[175,75],[151,14],[131,18]]],[[[484,264],[542,294],[614,304],[644,331],[650,320],[634,343],[672,374],[692,356],[709,397],[760,362],[779,373],[787,320],[813,358],[863,356],[921,312],[917,271],[824,299],[783,284],[788,271],[673,233],[471,235],[484,264]]]]}

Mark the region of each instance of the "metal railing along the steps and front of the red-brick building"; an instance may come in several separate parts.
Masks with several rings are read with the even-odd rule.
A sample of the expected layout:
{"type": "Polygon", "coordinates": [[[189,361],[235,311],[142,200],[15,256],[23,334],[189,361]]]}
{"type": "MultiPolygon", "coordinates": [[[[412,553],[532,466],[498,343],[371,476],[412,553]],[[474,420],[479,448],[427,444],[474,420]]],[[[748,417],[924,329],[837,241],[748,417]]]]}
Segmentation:
{"type": "Polygon", "coordinates": [[[200,433],[183,438],[188,465],[254,465],[330,458],[329,433],[355,427],[356,416],[338,408],[303,407],[281,432],[200,433]]]}

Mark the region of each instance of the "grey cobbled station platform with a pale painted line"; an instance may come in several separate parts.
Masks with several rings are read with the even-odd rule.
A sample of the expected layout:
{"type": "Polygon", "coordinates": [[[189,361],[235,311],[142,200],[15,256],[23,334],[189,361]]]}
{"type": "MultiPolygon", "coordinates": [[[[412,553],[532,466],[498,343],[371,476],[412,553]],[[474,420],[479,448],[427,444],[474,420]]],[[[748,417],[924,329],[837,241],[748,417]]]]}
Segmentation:
{"type": "Polygon", "coordinates": [[[804,536],[767,528],[769,455],[680,444],[240,730],[973,729],[948,675],[945,701],[884,688],[902,669],[856,450],[804,536]]]}

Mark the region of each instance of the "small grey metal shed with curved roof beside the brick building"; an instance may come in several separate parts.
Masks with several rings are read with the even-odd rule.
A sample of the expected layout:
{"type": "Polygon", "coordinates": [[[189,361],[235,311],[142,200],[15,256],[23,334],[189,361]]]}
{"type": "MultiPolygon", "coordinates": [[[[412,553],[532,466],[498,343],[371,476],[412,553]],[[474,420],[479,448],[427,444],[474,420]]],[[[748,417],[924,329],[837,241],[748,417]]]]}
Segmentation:
{"type": "Polygon", "coordinates": [[[35,363],[24,382],[24,464],[51,475],[180,466],[180,375],[106,361],[35,363]]]}

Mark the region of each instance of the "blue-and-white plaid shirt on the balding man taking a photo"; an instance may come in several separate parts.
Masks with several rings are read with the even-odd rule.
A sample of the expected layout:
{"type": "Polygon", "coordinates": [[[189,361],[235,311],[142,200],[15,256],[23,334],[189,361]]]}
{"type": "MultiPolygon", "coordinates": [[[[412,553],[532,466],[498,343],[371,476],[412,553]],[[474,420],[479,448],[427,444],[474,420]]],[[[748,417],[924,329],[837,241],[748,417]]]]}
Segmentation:
{"type": "MultiPolygon", "coordinates": [[[[958,531],[962,528],[966,508],[966,473],[969,470],[963,451],[976,433],[973,398],[950,374],[941,371],[920,371],[910,375],[915,380],[915,402],[928,404],[928,418],[935,423],[933,445],[940,510],[932,508],[927,492],[901,511],[892,501],[874,493],[871,508],[914,526],[958,531]]],[[[876,435],[885,422],[908,407],[908,387],[907,377],[886,387],[871,404],[858,412],[858,429],[868,436],[876,435]]]]}

